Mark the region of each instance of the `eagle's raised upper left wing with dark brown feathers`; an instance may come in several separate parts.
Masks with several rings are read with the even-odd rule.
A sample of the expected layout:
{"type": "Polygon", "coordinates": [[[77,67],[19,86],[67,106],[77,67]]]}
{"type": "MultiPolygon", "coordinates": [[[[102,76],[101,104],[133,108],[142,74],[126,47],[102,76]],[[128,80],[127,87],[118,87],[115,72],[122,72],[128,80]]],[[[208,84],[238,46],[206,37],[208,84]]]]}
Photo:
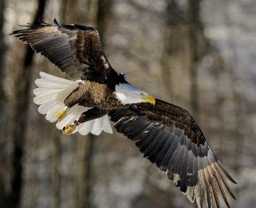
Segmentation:
{"type": "Polygon", "coordinates": [[[108,62],[98,31],[89,26],[54,25],[40,22],[14,31],[16,37],[41,53],[70,78],[111,85],[125,82],[108,62]]]}

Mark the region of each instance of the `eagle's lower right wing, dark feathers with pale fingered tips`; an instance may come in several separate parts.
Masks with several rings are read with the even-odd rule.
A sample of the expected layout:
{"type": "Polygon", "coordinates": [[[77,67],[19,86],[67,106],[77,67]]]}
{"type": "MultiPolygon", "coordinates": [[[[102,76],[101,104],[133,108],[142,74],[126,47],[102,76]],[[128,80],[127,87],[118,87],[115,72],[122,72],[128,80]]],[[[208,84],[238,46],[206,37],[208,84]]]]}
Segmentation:
{"type": "Polygon", "coordinates": [[[152,163],[167,173],[191,202],[203,206],[203,196],[211,207],[212,196],[220,207],[218,189],[230,207],[225,190],[235,198],[226,178],[236,183],[212,153],[203,132],[182,108],[156,100],[155,105],[138,103],[109,114],[114,128],[135,141],[152,163]],[[219,187],[219,188],[218,188],[219,187]]]}

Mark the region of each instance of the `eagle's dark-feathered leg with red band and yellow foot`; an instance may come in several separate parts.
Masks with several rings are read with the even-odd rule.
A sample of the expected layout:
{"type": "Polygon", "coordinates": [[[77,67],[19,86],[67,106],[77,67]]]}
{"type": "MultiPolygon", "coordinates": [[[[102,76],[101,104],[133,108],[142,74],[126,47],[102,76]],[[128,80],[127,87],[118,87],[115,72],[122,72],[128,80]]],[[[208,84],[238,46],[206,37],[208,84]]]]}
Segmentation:
{"type": "Polygon", "coordinates": [[[101,116],[108,114],[108,112],[110,112],[110,110],[101,110],[99,107],[93,107],[93,108],[83,112],[83,114],[81,114],[79,116],[79,119],[74,121],[74,124],[65,125],[65,127],[62,129],[63,134],[71,135],[71,133],[74,132],[74,130],[76,130],[78,125],[80,125],[81,123],[85,123],[87,121],[98,119],[101,116]]]}

